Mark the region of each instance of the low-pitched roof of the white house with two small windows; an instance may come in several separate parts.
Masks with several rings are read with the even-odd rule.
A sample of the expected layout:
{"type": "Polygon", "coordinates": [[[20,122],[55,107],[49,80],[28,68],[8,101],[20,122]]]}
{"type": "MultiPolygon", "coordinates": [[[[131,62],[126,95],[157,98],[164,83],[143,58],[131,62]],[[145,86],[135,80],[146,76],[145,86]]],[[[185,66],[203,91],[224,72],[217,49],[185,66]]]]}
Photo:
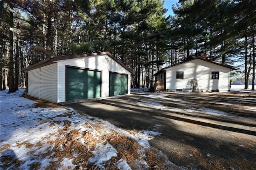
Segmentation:
{"type": "Polygon", "coordinates": [[[180,65],[180,64],[183,64],[183,63],[186,63],[186,62],[195,60],[195,59],[201,59],[201,60],[207,61],[207,62],[209,62],[209,63],[214,63],[214,64],[220,65],[220,66],[222,66],[222,67],[227,67],[227,68],[229,68],[230,70],[237,70],[237,69],[238,69],[238,68],[233,67],[233,66],[231,66],[231,65],[222,64],[222,63],[217,62],[217,61],[211,61],[211,60],[209,60],[209,59],[206,59],[205,57],[196,57],[196,58],[189,59],[189,60],[186,60],[186,61],[183,61],[183,62],[174,64],[174,65],[170,65],[170,66],[165,67],[165,68],[163,68],[163,69],[160,69],[160,70],[159,70],[157,73],[155,73],[153,76],[156,76],[156,75],[159,75],[159,74],[163,73],[166,69],[168,69],[168,68],[170,68],[170,67],[174,67],[174,66],[176,66],[176,65],[180,65]]]}

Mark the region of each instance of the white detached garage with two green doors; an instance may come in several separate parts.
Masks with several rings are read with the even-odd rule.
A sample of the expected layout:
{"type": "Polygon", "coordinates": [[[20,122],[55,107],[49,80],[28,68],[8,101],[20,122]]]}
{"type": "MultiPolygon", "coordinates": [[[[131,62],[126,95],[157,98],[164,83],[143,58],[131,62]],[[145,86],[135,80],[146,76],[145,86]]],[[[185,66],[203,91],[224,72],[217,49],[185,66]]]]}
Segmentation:
{"type": "Polygon", "coordinates": [[[53,103],[130,94],[132,70],[109,52],[48,58],[22,71],[28,95],[53,103]]]}

